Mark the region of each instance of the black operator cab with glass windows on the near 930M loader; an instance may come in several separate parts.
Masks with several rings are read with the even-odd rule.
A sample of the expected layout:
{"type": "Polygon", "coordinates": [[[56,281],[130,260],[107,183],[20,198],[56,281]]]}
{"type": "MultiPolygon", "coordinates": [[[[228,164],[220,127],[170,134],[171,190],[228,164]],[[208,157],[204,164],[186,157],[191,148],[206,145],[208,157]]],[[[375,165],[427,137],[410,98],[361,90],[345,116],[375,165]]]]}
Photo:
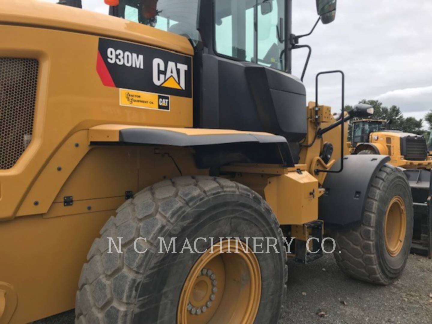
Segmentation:
{"type": "MultiPolygon", "coordinates": [[[[194,127],[275,133],[298,148],[307,133],[306,90],[290,74],[292,0],[105,2],[114,4],[111,15],[194,46],[194,127]]],[[[336,0],[317,0],[317,10],[323,23],[333,21],[336,0]]]]}

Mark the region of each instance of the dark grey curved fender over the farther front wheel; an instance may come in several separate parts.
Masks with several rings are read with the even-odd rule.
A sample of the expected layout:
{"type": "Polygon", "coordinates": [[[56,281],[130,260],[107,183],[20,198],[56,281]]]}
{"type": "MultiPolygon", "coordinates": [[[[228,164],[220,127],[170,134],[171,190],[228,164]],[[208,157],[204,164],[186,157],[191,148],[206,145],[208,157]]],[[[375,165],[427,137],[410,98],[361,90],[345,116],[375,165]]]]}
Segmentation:
{"type": "MultiPolygon", "coordinates": [[[[348,225],[362,220],[368,191],[381,166],[390,161],[384,155],[349,155],[343,158],[343,171],[329,173],[325,193],[318,200],[318,219],[325,224],[348,225]]],[[[340,169],[340,159],[331,170],[340,169]]]]}

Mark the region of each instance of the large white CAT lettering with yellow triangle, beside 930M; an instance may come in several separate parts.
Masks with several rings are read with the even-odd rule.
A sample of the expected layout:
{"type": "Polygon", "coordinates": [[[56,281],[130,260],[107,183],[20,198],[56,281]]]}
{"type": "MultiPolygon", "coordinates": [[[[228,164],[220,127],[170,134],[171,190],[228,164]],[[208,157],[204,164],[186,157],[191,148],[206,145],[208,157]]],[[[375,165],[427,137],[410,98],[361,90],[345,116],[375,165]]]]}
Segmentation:
{"type": "Polygon", "coordinates": [[[153,83],[156,86],[162,86],[166,88],[186,89],[187,65],[168,61],[165,62],[160,58],[153,60],[153,83]]]}

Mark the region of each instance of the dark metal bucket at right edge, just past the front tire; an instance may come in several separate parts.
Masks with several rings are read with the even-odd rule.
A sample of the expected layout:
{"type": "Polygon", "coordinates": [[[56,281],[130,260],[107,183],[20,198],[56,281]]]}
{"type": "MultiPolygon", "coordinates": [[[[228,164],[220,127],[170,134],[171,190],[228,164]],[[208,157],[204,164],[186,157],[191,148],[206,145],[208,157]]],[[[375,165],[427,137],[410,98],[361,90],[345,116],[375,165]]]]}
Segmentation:
{"type": "Polygon", "coordinates": [[[432,258],[432,173],[429,170],[403,170],[410,184],[414,203],[414,233],[411,253],[432,258]]]}

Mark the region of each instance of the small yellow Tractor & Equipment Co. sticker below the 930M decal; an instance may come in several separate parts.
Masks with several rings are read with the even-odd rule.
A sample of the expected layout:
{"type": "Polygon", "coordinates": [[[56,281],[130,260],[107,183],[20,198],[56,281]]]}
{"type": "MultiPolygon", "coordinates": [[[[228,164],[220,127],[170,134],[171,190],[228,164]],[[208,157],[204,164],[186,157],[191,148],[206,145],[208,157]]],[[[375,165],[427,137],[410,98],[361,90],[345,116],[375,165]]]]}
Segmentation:
{"type": "Polygon", "coordinates": [[[169,95],[120,89],[120,105],[169,111],[169,95]]]}

